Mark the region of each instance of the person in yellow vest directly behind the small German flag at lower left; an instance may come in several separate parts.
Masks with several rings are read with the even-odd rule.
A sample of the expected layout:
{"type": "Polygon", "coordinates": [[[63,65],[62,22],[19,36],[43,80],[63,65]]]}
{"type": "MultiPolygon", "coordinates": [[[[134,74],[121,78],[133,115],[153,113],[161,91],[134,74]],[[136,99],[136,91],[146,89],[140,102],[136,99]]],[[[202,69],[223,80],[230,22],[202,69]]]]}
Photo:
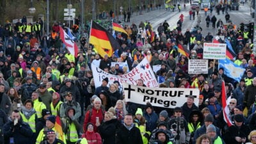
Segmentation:
{"type": "Polygon", "coordinates": [[[63,102],[60,100],[60,94],[58,92],[52,93],[51,112],[52,115],[60,116],[60,105],[63,102]]]}

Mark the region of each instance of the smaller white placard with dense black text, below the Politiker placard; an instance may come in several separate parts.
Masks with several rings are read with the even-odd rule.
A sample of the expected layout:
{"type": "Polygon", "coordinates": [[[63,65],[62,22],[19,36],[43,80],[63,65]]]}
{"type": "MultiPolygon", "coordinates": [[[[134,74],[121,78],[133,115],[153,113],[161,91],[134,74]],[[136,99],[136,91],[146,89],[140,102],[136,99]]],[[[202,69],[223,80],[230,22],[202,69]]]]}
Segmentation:
{"type": "Polygon", "coordinates": [[[208,74],[208,60],[188,60],[188,74],[208,74]]]}

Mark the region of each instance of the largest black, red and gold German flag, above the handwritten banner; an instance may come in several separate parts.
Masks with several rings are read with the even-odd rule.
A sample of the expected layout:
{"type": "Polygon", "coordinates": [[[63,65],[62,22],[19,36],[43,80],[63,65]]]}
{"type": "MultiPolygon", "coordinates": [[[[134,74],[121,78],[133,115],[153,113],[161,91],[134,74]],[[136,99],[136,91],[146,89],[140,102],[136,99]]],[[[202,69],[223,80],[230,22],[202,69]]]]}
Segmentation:
{"type": "Polygon", "coordinates": [[[89,43],[97,45],[97,51],[100,51],[100,56],[104,57],[106,54],[109,57],[112,56],[113,52],[120,48],[118,42],[111,33],[96,22],[92,21],[91,26],[89,43]]]}

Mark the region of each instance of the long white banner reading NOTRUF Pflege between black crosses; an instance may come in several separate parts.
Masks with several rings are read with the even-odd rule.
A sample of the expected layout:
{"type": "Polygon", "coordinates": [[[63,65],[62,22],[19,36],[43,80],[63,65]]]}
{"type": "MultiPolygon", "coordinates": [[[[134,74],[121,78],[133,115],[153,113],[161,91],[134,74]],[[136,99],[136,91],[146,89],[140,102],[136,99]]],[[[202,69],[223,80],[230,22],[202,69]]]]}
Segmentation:
{"type": "Polygon", "coordinates": [[[162,108],[181,107],[187,102],[187,97],[195,97],[194,103],[198,106],[199,89],[198,88],[147,88],[124,83],[123,90],[125,102],[134,102],[136,104],[146,104],[150,102],[152,106],[162,108]]]}

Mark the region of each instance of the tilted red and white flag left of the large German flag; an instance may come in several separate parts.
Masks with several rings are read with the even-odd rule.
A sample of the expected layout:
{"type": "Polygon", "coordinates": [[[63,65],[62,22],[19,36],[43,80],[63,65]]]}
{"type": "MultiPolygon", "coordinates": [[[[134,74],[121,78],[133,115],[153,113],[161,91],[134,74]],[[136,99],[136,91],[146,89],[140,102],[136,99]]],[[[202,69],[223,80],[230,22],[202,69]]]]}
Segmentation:
{"type": "Polygon", "coordinates": [[[61,28],[61,26],[60,26],[60,38],[62,42],[66,45],[68,51],[70,51],[70,54],[77,57],[78,47],[76,45],[76,42],[74,42],[74,40],[72,40],[72,38],[70,38],[70,36],[67,35],[65,30],[61,28]]]}

